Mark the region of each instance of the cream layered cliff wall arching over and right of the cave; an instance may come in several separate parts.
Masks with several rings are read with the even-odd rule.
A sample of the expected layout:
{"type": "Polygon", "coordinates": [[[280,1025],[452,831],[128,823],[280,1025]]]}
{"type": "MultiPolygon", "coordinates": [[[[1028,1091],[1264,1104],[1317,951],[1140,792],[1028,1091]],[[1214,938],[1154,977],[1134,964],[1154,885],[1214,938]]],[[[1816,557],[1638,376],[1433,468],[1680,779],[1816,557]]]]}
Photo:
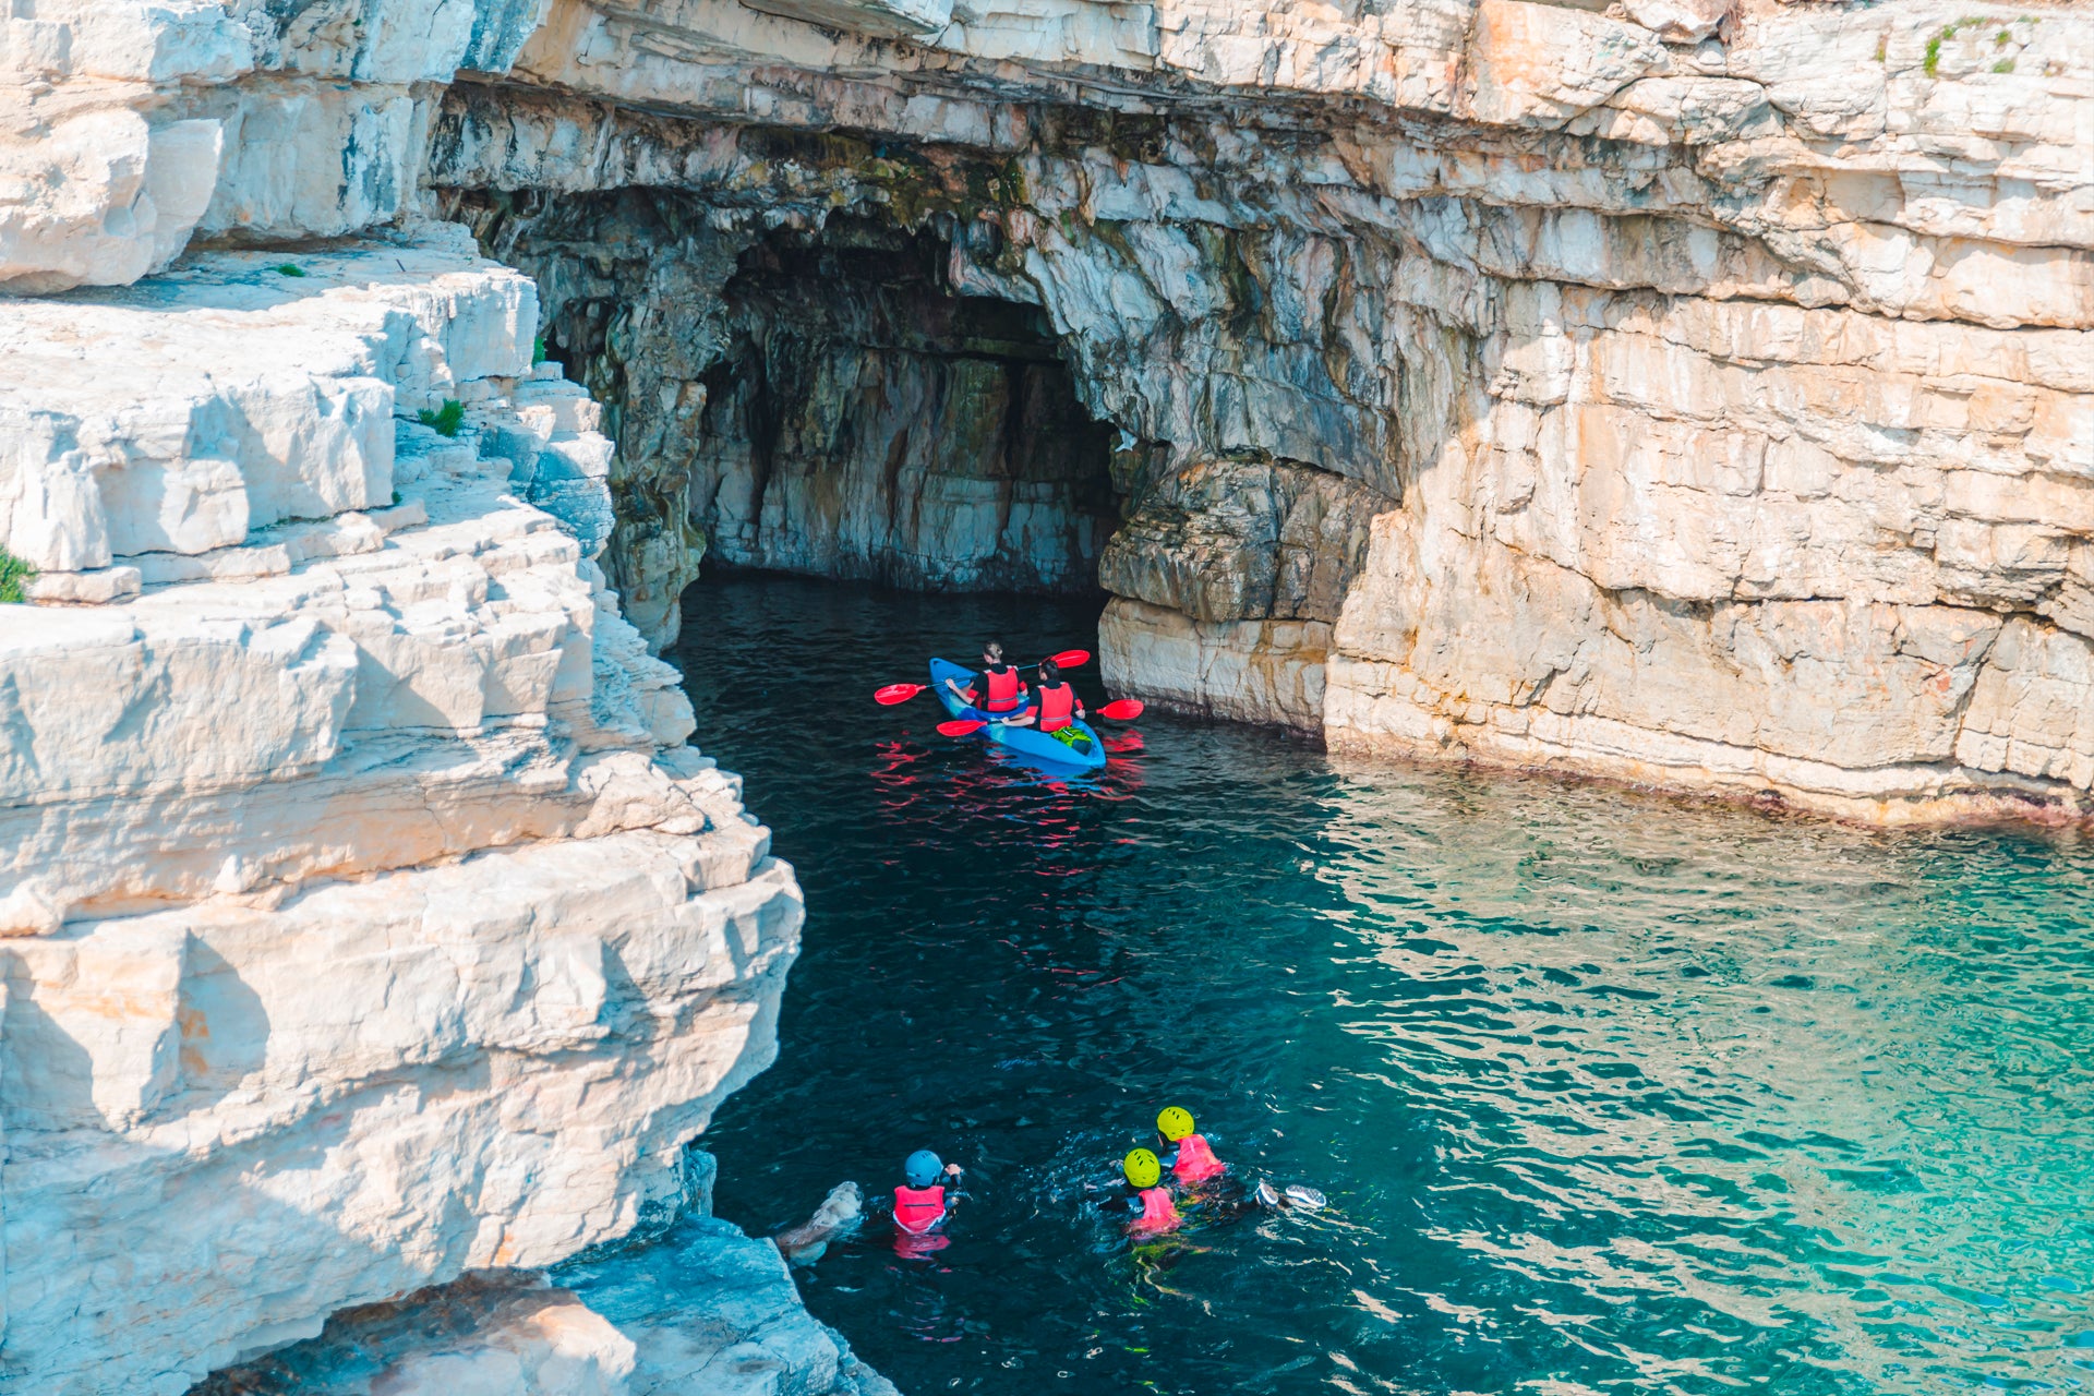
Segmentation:
{"type": "MultiPolygon", "coordinates": [[[[934,228],[1124,450],[1386,500],[1340,620],[1112,569],[1135,691],[1872,820],[2086,808],[2081,6],[821,15],[555,6],[429,178],[934,228]]],[[[1122,555],[1171,532],[1135,509],[1122,555]]]]}

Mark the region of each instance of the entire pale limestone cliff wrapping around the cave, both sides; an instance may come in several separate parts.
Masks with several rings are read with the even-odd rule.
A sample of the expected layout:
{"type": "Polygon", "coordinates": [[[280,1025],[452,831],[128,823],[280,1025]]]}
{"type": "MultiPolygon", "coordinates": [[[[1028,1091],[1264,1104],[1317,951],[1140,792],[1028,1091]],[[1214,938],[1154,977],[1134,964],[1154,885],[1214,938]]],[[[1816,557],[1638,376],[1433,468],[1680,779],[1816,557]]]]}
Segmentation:
{"type": "Polygon", "coordinates": [[[645,653],[706,546],[1095,565],[1114,684],[1349,749],[2088,810],[2081,4],[0,33],[10,1381],[676,1193],[798,925],[645,653]]]}

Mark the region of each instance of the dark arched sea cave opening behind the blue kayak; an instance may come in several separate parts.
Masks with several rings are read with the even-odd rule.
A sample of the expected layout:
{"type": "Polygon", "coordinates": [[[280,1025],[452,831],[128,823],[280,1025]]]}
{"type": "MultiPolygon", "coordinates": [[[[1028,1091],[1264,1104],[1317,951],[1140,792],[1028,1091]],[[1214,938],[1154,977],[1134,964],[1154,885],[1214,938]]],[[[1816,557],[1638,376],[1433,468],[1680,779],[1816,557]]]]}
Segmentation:
{"type": "Polygon", "coordinates": [[[917,590],[1097,590],[1112,427],[1047,316],[953,295],[946,243],[773,234],[722,289],[689,511],[708,561],[917,590]]]}

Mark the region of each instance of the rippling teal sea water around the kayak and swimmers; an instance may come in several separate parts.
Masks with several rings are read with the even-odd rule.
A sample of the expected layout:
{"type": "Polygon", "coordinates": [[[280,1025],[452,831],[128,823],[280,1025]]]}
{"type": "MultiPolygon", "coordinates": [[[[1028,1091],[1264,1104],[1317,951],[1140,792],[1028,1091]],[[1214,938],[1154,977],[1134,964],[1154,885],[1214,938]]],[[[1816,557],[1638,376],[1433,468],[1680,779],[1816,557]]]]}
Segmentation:
{"type": "Polygon", "coordinates": [[[697,739],[810,906],[716,1206],[963,1162],[951,1247],[875,1218],[802,1273],[905,1392],[2094,1388],[2086,841],[1166,718],[1047,781],[867,695],[1087,607],[737,578],[685,615],[697,739]],[[1087,1187],[1166,1103],[1332,1210],[1131,1247],[1087,1187]]]}

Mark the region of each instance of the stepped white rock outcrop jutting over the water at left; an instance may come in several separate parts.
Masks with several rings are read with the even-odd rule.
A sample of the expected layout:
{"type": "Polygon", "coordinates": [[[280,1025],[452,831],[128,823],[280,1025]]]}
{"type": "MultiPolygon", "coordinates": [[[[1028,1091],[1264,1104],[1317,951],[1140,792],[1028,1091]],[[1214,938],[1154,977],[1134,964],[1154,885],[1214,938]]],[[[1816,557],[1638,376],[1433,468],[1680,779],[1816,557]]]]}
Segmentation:
{"type": "Polygon", "coordinates": [[[773,1055],[800,894],[591,561],[536,318],[456,228],[0,318],[10,1390],[670,1216],[773,1055]]]}

